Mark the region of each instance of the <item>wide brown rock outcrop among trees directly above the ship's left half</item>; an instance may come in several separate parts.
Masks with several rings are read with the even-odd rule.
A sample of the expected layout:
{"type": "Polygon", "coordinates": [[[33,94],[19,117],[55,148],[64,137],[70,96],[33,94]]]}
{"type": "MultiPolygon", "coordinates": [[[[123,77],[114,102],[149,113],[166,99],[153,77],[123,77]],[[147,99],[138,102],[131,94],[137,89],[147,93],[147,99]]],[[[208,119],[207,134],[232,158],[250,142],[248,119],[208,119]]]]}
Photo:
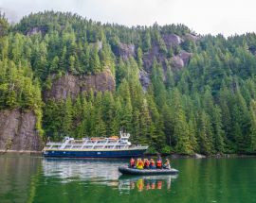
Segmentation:
{"type": "Polygon", "coordinates": [[[68,74],[61,76],[60,78],[52,76],[52,80],[51,89],[45,93],[46,100],[66,99],[68,95],[74,99],[80,93],[88,92],[90,90],[96,92],[114,92],[116,89],[115,78],[108,69],[92,76],[73,76],[68,74]]]}

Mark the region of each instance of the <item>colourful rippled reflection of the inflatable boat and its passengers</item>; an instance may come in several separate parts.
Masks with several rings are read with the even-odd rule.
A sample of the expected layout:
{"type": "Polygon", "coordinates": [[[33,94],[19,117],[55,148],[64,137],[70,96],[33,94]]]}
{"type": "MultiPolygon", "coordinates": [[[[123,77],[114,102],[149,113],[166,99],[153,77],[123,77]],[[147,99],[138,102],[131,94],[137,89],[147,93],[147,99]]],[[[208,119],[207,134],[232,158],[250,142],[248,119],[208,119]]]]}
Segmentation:
{"type": "Polygon", "coordinates": [[[171,190],[172,179],[177,176],[145,176],[145,177],[119,177],[119,191],[130,193],[131,190],[138,192],[148,190],[171,190]]]}

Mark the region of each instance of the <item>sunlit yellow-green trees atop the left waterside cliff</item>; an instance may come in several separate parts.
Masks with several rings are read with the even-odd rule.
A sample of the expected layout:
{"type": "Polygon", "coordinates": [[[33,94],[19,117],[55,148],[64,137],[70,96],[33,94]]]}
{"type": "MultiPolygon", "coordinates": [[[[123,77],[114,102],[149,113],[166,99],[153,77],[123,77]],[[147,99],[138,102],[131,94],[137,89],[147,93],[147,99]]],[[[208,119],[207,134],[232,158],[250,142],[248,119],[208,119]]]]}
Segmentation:
{"type": "Polygon", "coordinates": [[[41,87],[29,72],[25,64],[17,66],[12,60],[0,60],[0,110],[33,110],[37,116],[36,129],[43,135],[41,87]]]}

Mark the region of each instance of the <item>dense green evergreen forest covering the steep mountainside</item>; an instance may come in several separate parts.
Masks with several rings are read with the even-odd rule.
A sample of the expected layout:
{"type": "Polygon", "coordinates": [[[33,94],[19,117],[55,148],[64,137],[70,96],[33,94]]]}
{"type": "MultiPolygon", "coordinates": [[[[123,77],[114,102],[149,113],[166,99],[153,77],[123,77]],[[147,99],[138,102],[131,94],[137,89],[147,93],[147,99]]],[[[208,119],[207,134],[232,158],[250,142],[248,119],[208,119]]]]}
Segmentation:
{"type": "Polygon", "coordinates": [[[33,110],[45,139],[111,136],[124,127],[150,152],[255,153],[256,35],[197,36],[170,46],[169,34],[195,36],[185,25],[102,25],[53,11],[9,25],[1,14],[0,110],[33,110]],[[133,44],[135,55],[119,56],[120,44],[133,44]],[[155,47],[158,55],[145,65],[155,47]],[[172,59],[181,51],[192,56],[176,68],[172,59]],[[115,76],[114,92],[44,99],[53,75],[105,69],[115,76]]]}

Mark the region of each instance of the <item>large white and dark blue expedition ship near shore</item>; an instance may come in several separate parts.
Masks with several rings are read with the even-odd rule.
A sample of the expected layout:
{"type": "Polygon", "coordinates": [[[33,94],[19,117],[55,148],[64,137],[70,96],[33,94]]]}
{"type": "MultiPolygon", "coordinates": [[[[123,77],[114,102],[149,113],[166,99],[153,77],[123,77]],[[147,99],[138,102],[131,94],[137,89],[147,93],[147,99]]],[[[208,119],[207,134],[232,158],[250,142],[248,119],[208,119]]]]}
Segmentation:
{"type": "Polygon", "coordinates": [[[43,149],[45,157],[55,158],[131,158],[141,156],[147,145],[129,142],[130,134],[120,131],[120,135],[109,138],[83,138],[75,140],[65,137],[62,143],[48,142],[43,149]]]}

